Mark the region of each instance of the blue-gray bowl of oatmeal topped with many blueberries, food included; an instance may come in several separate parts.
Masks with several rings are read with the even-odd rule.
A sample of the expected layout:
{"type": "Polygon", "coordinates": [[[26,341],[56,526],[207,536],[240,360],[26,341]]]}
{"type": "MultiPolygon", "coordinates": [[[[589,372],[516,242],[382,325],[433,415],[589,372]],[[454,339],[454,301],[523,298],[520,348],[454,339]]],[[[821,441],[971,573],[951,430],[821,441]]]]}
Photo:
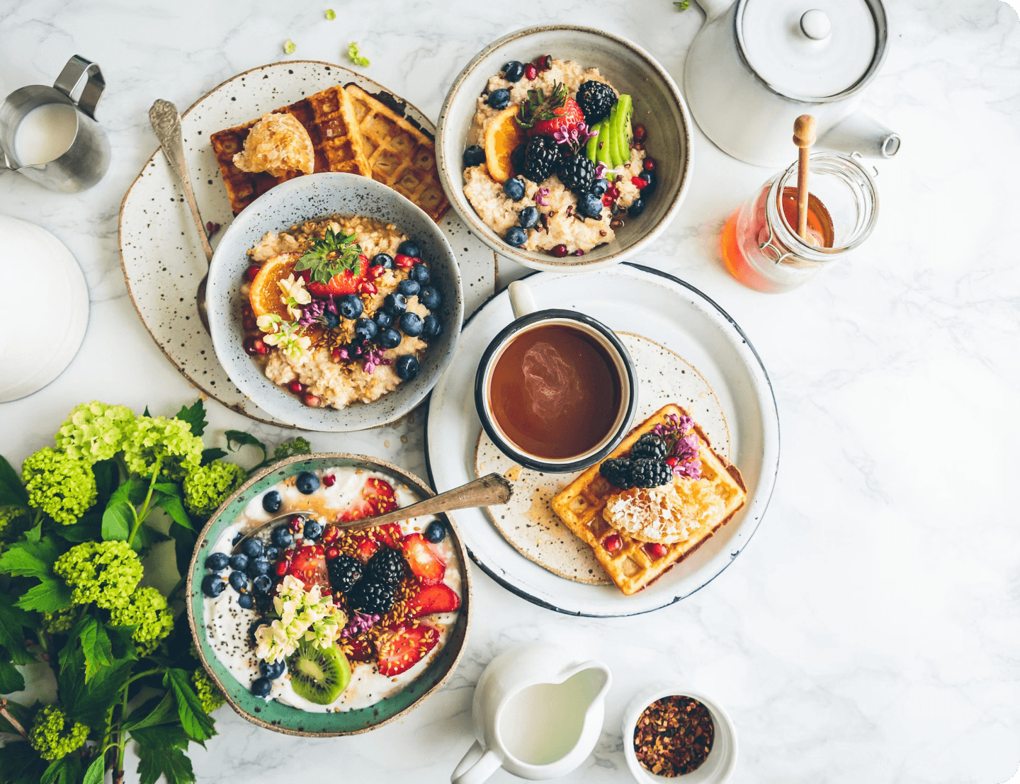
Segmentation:
{"type": "Polygon", "coordinates": [[[224,233],[206,293],[231,380],[295,427],[400,418],[450,362],[463,321],[440,227],[367,177],[323,172],[263,194],[224,233]]]}

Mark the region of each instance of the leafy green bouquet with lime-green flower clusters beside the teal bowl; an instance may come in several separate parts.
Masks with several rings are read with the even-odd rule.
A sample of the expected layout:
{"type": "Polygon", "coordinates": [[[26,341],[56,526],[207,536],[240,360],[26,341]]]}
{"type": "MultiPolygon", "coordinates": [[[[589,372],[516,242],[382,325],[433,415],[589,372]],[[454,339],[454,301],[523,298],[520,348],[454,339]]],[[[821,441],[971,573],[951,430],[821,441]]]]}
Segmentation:
{"type": "Polygon", "coordinates": [[[42,660],[58,695],[0,698],[0,732],[24,740],[0,747],[3,784],[101,784],[110,768],[121,784],[129,739],[141,784],[195,781],[185,750],[215,734],[209,713],[224,702],[182,612],[196,531],[251,472],[311,451],[295,438],[270,457],[227,430],[232,451],[262,451],[245,470],[205,449],[206,424],[201,400],[172,418],[85,403],[20,476],[0,457],[0,694],[24,689],[15,665],[42,660]],[[143,559],[171,539],[176,585],[139,587],[143,559]]]}

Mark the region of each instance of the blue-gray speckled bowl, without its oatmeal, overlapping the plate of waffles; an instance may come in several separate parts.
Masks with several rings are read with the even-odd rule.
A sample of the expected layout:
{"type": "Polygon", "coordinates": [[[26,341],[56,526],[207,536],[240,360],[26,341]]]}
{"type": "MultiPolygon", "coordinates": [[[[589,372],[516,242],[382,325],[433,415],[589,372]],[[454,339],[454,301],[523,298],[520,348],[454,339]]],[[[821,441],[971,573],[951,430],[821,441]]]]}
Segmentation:
{"type": "Polygon", "coordinates": [[[272,416],[304,430],[347,432],[393,422],[421,403],[453,358],[464,321],[460,271],[450,244],[435,221],[396,191],[357,174],[322,172],[295,177],[267,191],[231,223],[209,265],[206,288],[209,331],[216,357],[245,395],[272,416]],[[438,315],[443,334],[421,359],[413,381],[402,383],[374,403],[348,408],[312,409],[272,383],[245,354],[241,325],[241,283],[246,252],[267,231],[328,215],[358,214],[395,223],[421,247],[443,295],[438,315]]]}

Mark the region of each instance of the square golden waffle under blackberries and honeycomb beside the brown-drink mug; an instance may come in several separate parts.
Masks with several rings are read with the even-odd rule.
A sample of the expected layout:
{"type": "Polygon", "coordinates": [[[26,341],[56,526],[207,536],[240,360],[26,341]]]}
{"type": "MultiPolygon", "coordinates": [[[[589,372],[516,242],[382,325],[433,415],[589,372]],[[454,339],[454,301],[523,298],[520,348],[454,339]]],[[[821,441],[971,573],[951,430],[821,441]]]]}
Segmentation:
{"type": "MultiPolygon", "coordinates": [[[[651,432],[656,425],[666,424],[666,417],[670,414],[684,416],[686,412],[672,404],[659,409],[631,430],[609,457],[618,458],[627,454],[638,438],[651,432]]],[[[661,558],[652,558],[646,550],[646,542],[638,541],[626,533],[611,528],[603,519],[602,510],[606,506],[606,500],[618,490],[599,473],[599,464],[592,466],[574,479],[552,501],[556,514],[571,531],[588,542],[599,564],[606,570],[606,574],[627,595],[647,587],[698,550],[732,518],[747,499],[747,488],[744,486],[741,472],[725,458],[716,454],[708,437],[697,424],[695,431],[701,440],[702,479],[712,483],[716,492],[725,502],[725,509],[718,519],[709,521],[702,530],[684,541],[661,545],[666,547],[666,554],[661,558]],[[618,534],[623,542],[615,553],[609,553],[602,546],[602,542],[611,533],[618,534]]]]}

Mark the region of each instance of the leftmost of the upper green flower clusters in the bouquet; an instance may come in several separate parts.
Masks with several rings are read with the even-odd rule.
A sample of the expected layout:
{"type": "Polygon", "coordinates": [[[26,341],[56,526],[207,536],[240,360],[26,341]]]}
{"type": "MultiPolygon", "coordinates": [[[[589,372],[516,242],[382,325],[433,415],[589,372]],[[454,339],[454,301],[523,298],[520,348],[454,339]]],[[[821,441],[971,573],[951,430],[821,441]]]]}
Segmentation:
{"type": "Polygon", "coordinates": [[[76,523],[96,503],[92,467],[49,447],[26,458],[21,481],[29,491],[29,506],[41,509],[63,525],[76,523]]]}

